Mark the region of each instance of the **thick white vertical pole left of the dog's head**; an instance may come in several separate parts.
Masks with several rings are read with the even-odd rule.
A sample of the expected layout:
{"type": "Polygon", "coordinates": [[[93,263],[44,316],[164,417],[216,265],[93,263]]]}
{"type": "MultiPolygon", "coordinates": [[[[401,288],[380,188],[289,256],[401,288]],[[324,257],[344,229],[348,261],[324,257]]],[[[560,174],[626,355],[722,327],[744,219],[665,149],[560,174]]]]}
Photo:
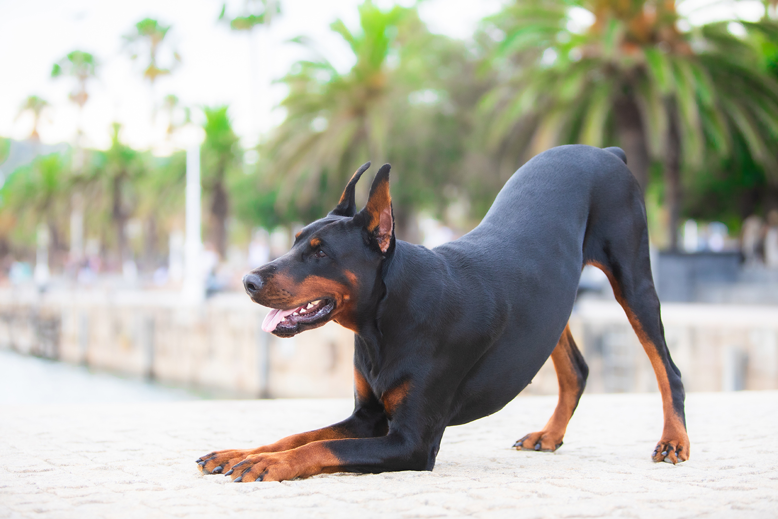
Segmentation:
{"type": "Polygon", "coordinates": [[[202,271],[202,235],[200,205],[200,145],[187,149],[187,221],[184,242],[184,301],[205,300],[205,277],[202,271]]]}

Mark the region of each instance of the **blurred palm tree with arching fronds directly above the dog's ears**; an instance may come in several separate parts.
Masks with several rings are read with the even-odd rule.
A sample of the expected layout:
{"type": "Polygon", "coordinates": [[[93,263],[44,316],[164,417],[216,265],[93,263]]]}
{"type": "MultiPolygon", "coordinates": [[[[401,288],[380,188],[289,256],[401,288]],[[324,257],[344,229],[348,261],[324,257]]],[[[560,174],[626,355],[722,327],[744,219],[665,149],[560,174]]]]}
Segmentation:
{"type": "MultiPolygon", "coordinates": [[[[384,12],[366,0],[359,6],[361,31],[352,33],[339,19],[331,25],[356,57],[348,73],[320,57],[300,61],[282,79],[289,87],[281,103],[286,120],[268,143],[271,174],[284,179],[279,204],[294,199],[304,212],[312,204],[335,202],[355,164],[386,158],[387,56],[408,11],[395,6],[384,12]],[[334,200],[317,200],[321,192],[334,200]]],[[[302,37],[297,41],[307,43],[302,37]]]]}

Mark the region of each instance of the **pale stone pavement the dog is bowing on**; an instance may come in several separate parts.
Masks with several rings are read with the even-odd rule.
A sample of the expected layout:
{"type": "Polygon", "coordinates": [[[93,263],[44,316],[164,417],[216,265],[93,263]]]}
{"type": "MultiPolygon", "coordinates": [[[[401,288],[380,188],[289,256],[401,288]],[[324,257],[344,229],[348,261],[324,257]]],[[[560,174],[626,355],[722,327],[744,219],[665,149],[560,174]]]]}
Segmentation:
{"type": "Polygon", "coordinates": [[[692,458],[649,455],[657,394],[584,395],[559,451],[510,448],[555,397],[451,427],[433,472],[232,483],[212,449],[275,441],[347,400],[0,406],[0,517],[778,517],[778,392],[692,393],[692,458]]]}

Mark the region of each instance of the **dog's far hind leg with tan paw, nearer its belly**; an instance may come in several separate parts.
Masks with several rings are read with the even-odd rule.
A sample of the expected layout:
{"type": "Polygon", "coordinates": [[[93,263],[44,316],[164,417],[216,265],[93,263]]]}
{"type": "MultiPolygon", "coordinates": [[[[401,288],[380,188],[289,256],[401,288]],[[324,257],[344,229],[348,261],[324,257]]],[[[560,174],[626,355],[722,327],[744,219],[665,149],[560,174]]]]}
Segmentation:
{"type": "Polygon", "coordinates": [[[573,341],[569,326],[565,327],[565,331],[559,337],[559,342],[556,343],[551,354],[551,360],[559,381],[559,402],[543,430],[527,434],[513,444],[513,447],[522,451],[551,452],[558,449],[562,445],[567,423],[578,406],[581,393],[584,392],[589,367],[573,341]]]}

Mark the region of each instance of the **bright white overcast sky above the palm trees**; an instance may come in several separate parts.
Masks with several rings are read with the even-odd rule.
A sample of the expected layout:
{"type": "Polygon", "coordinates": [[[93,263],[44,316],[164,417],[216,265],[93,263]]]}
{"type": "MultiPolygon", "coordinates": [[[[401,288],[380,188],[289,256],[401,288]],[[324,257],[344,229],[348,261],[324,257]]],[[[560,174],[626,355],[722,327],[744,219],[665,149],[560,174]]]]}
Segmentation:
{"type": "MultiPolygon", "coordinates": [[[[220,0],[0,0],[0,135],[16,139],[29,135],[31,119],[17,119],[17,113],[23,99],[36,94],[52,105],[40,125],[41,139],[50,144],[72,141],[78,124],[77,110],[68,101],[73,82],[52,79],[51,67],[68,52],[81,50],[100,61],[99,78],[90,82],[82,117],[86,145],[106,148],[114,120],[124,125],[124,141],[137,148],[153,147],[157,153],[166,153],[173,145],[183,144],[167,143],[163,124],[152,126],[152,92],[142,81],[140,63],[131,61],[122,40],[138,20],[149,16],[173,26],[166,43],[182,58],[173,74],[157,81],[154,97],[173,93],[189,106],[229,104],[237,134],[244,145],[253,145],[283,117],[274,107],[285,91],[272,81],[295,61],[310,56],[287,40],[306,35],[337,68],[347,71],[352,65],[349,49],[329,25],[342,18],[349,28],[356,28],[360,2],[282,0],[282,16],[270,30],[254,31],[257,34],[251,40],[217,22],[220,0]]],[[[498,11],[502,4],[503,0],[426,0],[419,11],[433,32],[467,38],[479,19],[498,11]]],[[[237,14],[242,5],[242,0],[233,2],[228,14],[230,8],[237,14]]],[[[733,5],[687,0],[682,12],[689,14],[692,23],[733,15],[755,19],[761,14],[761,2],[756,0],[733,5]]]]}

